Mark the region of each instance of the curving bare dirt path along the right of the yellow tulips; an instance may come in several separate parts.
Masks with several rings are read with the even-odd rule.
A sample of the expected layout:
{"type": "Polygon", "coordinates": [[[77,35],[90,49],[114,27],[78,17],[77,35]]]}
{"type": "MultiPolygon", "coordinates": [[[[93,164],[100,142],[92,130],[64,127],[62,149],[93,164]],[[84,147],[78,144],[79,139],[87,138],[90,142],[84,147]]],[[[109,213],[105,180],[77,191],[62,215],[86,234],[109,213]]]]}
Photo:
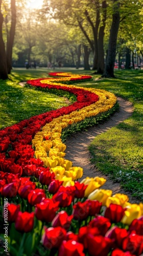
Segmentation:
{"type": "Polygon", "coordinates": [[[120,104],[120,110],[119,112],[113,114],[108,121],[103,124],[90,127],[87,132],[76,133],[66,140],[66,159],[72,161],[74,166],[80,166],[83,168],[82,179],[87,176],[104,177],[107,181],[104,186],[102,186],[102,188],[112,189],[113,194],[126,194],[129,196],[129,201],[131,203],[139,203],[139,201],[131,197],[130,193],[127,193],[124,189],[121,188],[120,183],[114,183],[112,180],[109,180],[108,176],[105,176],[101,172],[98,172],[96,170],[96,167],[94,167],[94,165],[90,163],[91,156],[87,147],[94,139],[94,137],[108,131],[111,127],[117,125],[120,122],[123,122],[125,119],[132,115],[132,103],[120,97],[117,97],[117,100],[120,104]]]}

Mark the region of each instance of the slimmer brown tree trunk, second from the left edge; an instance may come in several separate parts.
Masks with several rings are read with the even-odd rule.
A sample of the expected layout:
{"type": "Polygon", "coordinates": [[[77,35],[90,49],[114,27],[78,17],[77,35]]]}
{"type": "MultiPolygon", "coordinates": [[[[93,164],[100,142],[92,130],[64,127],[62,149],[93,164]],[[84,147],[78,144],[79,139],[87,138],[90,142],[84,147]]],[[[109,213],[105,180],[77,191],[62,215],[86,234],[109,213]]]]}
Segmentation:
{"type": "Polygon", "coordinates": [[[15,26],[16,26],[16,6],[15,6],[15,0],[11,0],[11,28],[10,28],[10,34],[8,36],[8,42],[7,42],[8,74],[10,74],[12,69],[12,47],[14,42],[15,26]]]}

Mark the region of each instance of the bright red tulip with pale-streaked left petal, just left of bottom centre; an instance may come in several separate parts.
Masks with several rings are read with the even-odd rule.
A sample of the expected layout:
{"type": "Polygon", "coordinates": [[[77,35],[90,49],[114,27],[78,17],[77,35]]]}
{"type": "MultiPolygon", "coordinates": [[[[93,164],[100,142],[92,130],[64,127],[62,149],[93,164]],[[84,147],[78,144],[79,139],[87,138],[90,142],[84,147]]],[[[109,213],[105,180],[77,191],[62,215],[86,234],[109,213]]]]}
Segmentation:
{"type": "Polygon", "coordinates": [[[55,218],[52,221],[52,227],[63,227],[66,230],[69,229],[73,215],[68,216],[66,211],[62,210],[58,212],[55,218]]]}

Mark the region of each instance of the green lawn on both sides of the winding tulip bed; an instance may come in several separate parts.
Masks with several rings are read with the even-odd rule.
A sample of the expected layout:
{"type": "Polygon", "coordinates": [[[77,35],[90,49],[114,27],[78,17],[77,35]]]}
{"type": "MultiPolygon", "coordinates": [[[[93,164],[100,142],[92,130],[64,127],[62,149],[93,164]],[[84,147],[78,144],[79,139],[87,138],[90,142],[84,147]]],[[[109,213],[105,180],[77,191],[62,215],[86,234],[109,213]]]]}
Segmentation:
{"type": "MultiPolygon", "coordinates": [[[[18,85],[19,81],[47,77],[47,72],[73,72],[91,74],[93,71],[76,69],[13,69],[11,80],[0,80],[0,129],[19,122],[22,119],[61,108],[66,105],[65,98],[40,90],[28,89],[18,85]]],[[[133,102],[133,115],[124,122],[97,136],[89,151],[92,163],[102,172],[132,192],[132,195],[143,201],[143,70],[115,71],[116,78],[97,79],[77,83],[77,86],[104,89],[133,102]]]]}

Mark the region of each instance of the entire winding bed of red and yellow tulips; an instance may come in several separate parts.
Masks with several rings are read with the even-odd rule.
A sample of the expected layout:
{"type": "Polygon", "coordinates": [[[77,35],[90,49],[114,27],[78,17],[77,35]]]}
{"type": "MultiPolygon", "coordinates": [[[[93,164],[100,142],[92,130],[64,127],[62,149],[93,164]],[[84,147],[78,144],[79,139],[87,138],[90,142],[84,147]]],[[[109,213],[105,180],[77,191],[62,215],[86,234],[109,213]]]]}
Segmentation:
{"type": "Polygon", "coordinates": [[[111,114],[116,97],[67,84],[91,76],[50,75],[58,78],[27,83],[74,94],[76,102],[0,131],[1,217],[4,231],[8,227],[1,236],[4,250],[8,239],[11,255],[17,256],[140,255],[143,205],[101,189],[104,178],[86,177],[79,182],[83,169],[65,159],[66,137],[111,114]]]}

